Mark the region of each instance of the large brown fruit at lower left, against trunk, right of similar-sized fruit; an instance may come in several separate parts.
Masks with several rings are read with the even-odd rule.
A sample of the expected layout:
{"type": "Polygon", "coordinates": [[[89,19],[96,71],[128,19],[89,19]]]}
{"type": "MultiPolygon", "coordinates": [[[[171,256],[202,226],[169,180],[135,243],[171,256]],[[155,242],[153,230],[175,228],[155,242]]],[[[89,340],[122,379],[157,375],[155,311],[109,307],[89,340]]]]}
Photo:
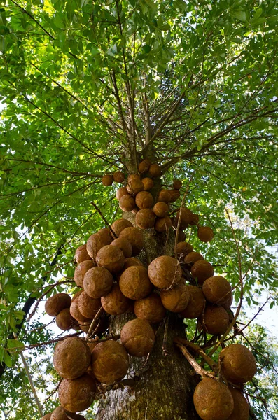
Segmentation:
{"type": "Polygon", "coordinates": [[[92,351],[92,372],[102,384],[113,384],[127,374],[128,355],[125,347],[113,340],[102,342],[92,351]]]}

